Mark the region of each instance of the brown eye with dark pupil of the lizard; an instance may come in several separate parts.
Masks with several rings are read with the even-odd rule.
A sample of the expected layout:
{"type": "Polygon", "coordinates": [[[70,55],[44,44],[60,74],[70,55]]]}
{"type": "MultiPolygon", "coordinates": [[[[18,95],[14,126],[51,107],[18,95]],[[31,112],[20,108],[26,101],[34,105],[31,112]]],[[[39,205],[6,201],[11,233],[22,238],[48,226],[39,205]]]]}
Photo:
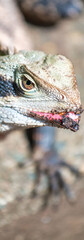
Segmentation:
{"type": "Polygon", "coordinates": [[[22,87],[26,90],[32,90],[34,88],[34,83],[24,76],[22,77],[22,87]]]}

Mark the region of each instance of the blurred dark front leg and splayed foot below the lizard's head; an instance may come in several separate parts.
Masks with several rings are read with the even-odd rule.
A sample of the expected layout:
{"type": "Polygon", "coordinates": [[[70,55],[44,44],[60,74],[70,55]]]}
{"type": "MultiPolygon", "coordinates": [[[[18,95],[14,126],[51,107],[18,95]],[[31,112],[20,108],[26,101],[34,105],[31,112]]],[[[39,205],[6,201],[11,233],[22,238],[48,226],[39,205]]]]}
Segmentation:
{"type": "MultiPolygon", "coordinates": [[[[62,168],[68,168],[77,177],[80,175],[78,169],[64,161],[55,148],[55,128],[43,127],[26,130],[29,140],[32,159],[36,163],[38,181],[40,186],[48,178],[48,191],[45,192],[46,201],[49,195],[59,198],[61,190],[64,191],[67,199],[72,202],[75,200],[74,192],[62,176],[62,168]],[[43,180],[44,178],[44,180],[43,180]]],[[[36,187],[37,191],[38,187],[36,187]]],[[[37,191],[38,192],[38,191],[37,191]]]]}

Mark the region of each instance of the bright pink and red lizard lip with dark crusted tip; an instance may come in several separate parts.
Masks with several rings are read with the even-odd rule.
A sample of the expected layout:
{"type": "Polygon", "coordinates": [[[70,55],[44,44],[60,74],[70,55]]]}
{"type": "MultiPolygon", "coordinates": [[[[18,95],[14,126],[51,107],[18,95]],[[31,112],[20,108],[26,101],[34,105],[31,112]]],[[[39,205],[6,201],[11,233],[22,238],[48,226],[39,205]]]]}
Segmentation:
{"type": "Polygon", "coordinates": [[[67,128],[74,132],[79,129],[79,121],[80,121],[80,113],[74,112],[63,112],[63,113],[45,113],[38,111],[31,111],[29,114],[31,117],[35,117],[35,119],[41,119],[46,123],[50,123],[53,126],[67,128]]]}

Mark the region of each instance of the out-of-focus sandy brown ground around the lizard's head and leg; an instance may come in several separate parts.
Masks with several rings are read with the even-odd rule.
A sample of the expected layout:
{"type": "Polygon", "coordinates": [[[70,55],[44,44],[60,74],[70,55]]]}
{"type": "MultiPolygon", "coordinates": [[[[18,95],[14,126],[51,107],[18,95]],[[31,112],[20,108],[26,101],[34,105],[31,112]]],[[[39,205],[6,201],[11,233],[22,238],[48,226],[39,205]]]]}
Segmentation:
{"type": "MultiPolygon", "coordinates": [[[[84,105],[84,14],[74,20],[61,20],[53,27],[39,28],[30,24],[28,27],[35,39],[34,49],[64,54],[72,60],[84,105]]],[[[84,174],[83,117],[84,114],[76,134],[56,130],[56,147],[84,174]]],[[[27,168],[17,167],[22,158],[27,158],[27,143],[23,133],[17,131],[0,143],[0,240],[83,240],[84,179],[74,184],[78,196],[76,204],[70,205],[62,197],[58,207],[38,211],[39,200],[30,202],[27,197],[27,168]],[[30,210],[32,204],[34,207],[30,210]]],[[[63,174],[69,183],[74,182],[69,172],[64,170],[63,174]]]]}

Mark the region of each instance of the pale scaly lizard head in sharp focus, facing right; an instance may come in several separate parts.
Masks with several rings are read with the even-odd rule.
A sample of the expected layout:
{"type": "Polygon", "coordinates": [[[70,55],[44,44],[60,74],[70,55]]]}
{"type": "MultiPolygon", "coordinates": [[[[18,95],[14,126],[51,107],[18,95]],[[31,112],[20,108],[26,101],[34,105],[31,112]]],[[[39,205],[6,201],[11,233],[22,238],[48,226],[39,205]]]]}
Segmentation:
{"type": "Polygon", "coordinates": [[[11,127],[52,125],[78,130],[80,94],[66,57],[22,51],[6,57],[0,76],[5,87],[2,105],[5,112],[10,110],[11,127]]]}

